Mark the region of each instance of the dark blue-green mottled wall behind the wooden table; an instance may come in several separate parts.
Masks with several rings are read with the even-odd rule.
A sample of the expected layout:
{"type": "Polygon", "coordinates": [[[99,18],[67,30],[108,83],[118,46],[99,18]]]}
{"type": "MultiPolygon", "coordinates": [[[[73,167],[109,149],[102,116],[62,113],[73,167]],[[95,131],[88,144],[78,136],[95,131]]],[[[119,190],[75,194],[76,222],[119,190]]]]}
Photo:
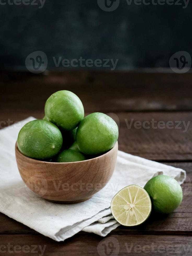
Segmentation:
{"type": "Polygon", "coordinates": [[[120,0],[111,12],[96,0],[46,0],[41,9],[40,4],[0,5],[0,68],[26,70],[33,51],[44,51],[50,68],[53,56],[119,59],[119,70],[169,67],[175,52],[192,53],[191,3],[182,5],[120,0]]]}

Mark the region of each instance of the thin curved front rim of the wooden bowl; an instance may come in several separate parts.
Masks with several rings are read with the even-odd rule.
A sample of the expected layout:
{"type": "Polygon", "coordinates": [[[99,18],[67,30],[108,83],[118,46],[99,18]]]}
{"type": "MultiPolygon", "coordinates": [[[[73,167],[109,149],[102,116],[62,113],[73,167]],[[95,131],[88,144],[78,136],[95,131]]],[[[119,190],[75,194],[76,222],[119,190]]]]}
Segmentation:
{"type": "Polygon", "coordinates": [[[17,151],[20,155],[22,155],[24,158],[27,158],[27,159],[30,159],[30,160],[33,160],[33,161],[35,161],[35,162],[40,162],[40,163],[42,163],[42,164],[72,164],[72,163],[81,163],[81,162],[88,162],[88,161],[90,161],[90,160],[93,160],[93,159],[98,159],[98,158],[101,158],[101,157],[103,157],[103,156],[106,156],[107,154],[109,154],[109,152],[111,152],[115,147],[117,147],[117,150],[118,150],[118,141],[115,143],[115,145],[113,146],[113,148],[112,149],[110,149],[109,151],[107,151],[106,153],[104,153],[103,155],[100,155],[100,156],[96,156],[96,157],[94,157],[94,158],[90,158],[90,159],[86,159],[86,160],[82,160],[82,161],[76,161],[76,162],[46,162],[46,161],[42,161],[42,160],[38,160],[38,159],[33,159],[33,158],[31,158],[31,157],[28,157],[28,156],[26,156],[26,155],[24,155],[24,154],[22,154],[21,153],[21,151],[19,150],[19,148],[18,148],[18,145],[17,145],[17,141],[16,141],[16,143],[15,143],[15,151],[17,151]]]}

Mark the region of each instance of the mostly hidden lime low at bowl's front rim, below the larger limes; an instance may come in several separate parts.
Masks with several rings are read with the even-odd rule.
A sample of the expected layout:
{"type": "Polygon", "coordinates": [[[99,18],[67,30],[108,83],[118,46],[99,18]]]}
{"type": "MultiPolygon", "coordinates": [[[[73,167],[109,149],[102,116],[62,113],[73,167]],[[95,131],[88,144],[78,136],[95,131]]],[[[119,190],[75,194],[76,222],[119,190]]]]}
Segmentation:
{"type": "Polygon", "coordinates": [[[65,162],[77,162],[86,160],[85,156],[76,150],[66,149],[63,150],[56,158],[55,162],[65,163],[65,162]]]}

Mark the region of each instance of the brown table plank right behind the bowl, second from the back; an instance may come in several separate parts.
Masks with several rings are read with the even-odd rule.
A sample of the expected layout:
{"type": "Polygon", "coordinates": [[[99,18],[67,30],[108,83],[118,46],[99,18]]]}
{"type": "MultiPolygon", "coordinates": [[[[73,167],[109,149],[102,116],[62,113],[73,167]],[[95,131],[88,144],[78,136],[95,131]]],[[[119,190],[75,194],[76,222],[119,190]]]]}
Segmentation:
{"type": "MultiPolygon", "coordinates": [[[[2,120],[6,120],[2,127],[8,125],[7,117],[12,124],[30,115],[41,119],[44,113],[42,110],[22,112],[18,109],[9,114],[5,112],[1,114],[2,120]]],[[[192,141],[189,139],[192,137],[192,112],[120,112],[110,113],[110,116],[119,123],[119,150],[156,161],[192,160],[192,141]],[[153,120],[156,122],[154,126],[153,120]],[[169,126],[170,122],[173,125],[169,126]],[[178,122],[189,126],[186,128],[178,122]],[[149,129],[145,129],[145,125],[149,129]]]]}

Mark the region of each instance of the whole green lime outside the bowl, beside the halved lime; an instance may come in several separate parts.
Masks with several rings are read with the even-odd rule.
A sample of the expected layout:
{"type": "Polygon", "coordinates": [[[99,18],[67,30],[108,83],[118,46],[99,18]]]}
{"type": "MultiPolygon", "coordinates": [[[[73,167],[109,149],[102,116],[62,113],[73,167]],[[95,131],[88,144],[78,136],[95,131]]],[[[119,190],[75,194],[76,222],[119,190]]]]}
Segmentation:
{"type": "Polygon", "coordinates": [[[173,212],[183,199],[179,183],[166,175],[153,177],[146,183],[144,189],[151,198],[154,210],[159,213],[173,212]]]}

